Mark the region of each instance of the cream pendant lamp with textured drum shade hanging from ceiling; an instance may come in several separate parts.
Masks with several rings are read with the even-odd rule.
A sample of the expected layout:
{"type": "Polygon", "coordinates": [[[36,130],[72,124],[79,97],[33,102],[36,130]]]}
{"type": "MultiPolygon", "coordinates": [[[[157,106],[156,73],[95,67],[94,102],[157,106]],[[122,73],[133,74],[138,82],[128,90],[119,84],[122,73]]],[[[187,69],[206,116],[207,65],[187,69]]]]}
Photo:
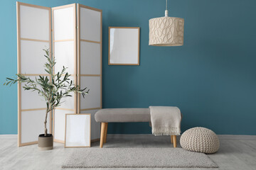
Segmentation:
{"type": "Polygon", "coordinates": [[[181,46],[183,45],[184,19],[165,16],[149,20],[149,45],[154,46],[181,46]]]}

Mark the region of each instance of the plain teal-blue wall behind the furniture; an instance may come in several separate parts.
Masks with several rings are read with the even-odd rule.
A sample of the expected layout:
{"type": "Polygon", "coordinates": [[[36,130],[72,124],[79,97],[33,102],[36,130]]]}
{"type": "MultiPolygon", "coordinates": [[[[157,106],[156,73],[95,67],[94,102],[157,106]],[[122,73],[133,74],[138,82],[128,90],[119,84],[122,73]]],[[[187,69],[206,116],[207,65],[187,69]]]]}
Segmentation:
{"type": "MultiPolygon", "coordinates": [[[[256,1],[169,0],[185,19],[182,47],[148,45],[149,18],[164,0],[23,0],[41,6],[80,3],[103,10],[103,107],[178,106],[182,130],[256,135],[256,1]],[[107,64],[108,26],[141,28],[140,66],[107,64]]],[[[0,82],[16,74],[16,1],[0,8],[0,82]]],[[[17,90],[0,86],[0,134],[17,133],[17,90]]],[[[150,133],[148,123],[112,123],[110,133],[150,133]]]]}

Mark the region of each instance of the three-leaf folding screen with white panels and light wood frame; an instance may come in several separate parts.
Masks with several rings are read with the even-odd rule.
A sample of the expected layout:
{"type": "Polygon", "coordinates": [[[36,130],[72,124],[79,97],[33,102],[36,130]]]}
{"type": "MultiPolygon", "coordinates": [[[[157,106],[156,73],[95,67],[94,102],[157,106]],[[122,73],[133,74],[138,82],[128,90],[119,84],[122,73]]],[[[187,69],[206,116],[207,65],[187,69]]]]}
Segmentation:
{"type": "MultiPolygon", "coordinates": [[[[85,98],[77,94],[65,98],[53,116],[49,115],[48,129],[51,132],[53,118],[54,141],[64,143],[67,113],[90,113],[91,139],[98,140],[100,123],[95,122],[94,115],[102,108],[102,10],[80,4],[47,8],[17,2],[17,35],[18,74],[31,79],[48,76],[43,68],[43,49],[51,52],[53,45],[53,73],[68,67],[70,79],[90,89],[85,98]]],[[[23,91],[18,84],[18,146],[37,143],[38,135],[43,133],[45,111],[43,99],[23,91]]]]}

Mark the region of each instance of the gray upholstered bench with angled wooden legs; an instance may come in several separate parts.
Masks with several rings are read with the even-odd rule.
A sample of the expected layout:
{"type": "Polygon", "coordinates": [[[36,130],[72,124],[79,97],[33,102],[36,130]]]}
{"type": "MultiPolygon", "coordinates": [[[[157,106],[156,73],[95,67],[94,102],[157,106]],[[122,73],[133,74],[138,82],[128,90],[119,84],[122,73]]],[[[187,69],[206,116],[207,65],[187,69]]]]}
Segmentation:
{"type": "MultiPolygon", "coordinates": [[[[100,147],[107,142],[108,123],[150,122],[149,108],[104,108],[95,113],[95,120],[101,123],[100,147]]],[[[171,143],[177,146],[176,135],[171,135],[171,143]]]]}

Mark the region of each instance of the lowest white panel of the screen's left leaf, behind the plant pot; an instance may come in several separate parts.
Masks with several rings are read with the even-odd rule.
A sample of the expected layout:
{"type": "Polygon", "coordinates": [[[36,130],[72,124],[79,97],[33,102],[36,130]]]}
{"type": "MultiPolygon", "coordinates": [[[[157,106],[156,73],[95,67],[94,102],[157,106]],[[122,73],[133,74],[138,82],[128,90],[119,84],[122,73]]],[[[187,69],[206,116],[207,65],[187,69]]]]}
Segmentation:
{"type": "MultiPolygon", "coordinates": [[[[47,128],[50,130],[50,114],[48,113],[47,128]]],[[[21,143],[37,141],[38,135],[44,133],[44,120],[46,111],[22,111],[21,112],[21,143]]]]}

